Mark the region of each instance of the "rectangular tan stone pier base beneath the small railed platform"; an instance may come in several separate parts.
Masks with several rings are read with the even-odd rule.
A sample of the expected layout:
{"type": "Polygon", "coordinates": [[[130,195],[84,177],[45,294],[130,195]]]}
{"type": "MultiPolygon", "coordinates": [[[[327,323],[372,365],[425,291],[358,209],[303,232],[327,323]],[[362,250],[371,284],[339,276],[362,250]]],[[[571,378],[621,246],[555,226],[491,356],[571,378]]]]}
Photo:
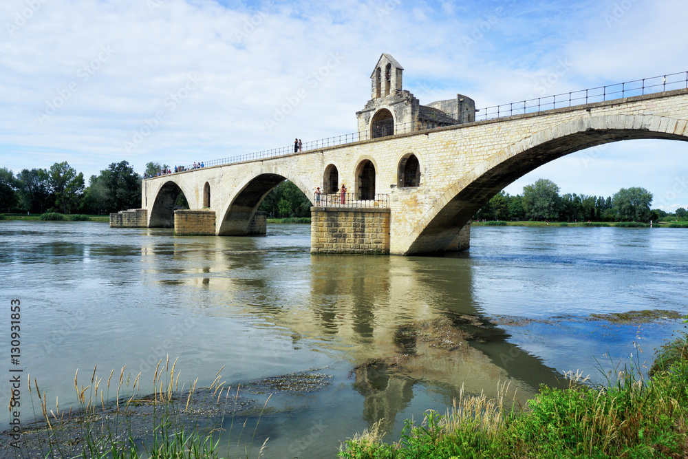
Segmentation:
{"type": "Polygon", "coordinates": [[[389,209],[311,207],[311,253],[389,253],[389,209]]]}

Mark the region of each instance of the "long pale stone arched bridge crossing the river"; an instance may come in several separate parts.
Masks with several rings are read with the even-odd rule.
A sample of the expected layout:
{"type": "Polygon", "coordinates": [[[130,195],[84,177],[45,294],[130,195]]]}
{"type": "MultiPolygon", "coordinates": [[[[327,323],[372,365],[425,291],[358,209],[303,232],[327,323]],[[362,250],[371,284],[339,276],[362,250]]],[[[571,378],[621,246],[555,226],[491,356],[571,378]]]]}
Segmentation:
{"type": "Polygon", "coordinates": [[[192,210],[210,215],[212,233],[245,235],[261,200],[286,179],[314,204],[318,186],[334,195],[344,184],[350,193],[352,208],[314,207],[314,252],[356,252],[356,241],[345,237],[323,249],[321,239],[347,221],[383,233],[383,253],[460,250],[468,247],[467,231],[460,232],[477,209],[542,164],[619,140],[688,140],[687,126],[688,89],[676,89],[204,167],[144,180],[142,226],[171,226],[172,204],[183,192],[192,210]],[[374,195],[388,195],[388,204],[374,195]],[[385,213],[386,223],[356,220],[356,202],[385,213]],[[327,211],[348,213],[327,220],[327,211]]]}

